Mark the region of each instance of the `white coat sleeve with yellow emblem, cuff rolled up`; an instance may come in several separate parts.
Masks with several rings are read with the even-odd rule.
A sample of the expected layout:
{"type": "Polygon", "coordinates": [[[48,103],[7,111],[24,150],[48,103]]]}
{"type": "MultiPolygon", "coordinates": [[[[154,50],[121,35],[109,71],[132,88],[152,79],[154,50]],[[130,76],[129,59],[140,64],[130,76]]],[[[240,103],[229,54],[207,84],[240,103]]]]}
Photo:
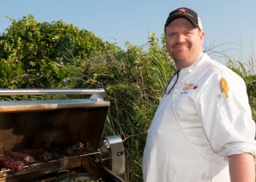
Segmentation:
{"type": "Polygon", "coordinates": [[[242,153],[256,156],[255,122],[244,80],[233,71],[218,71],[208,79],[211,87],[205,87],[198,98],[198,109],[212,149],[222,157],[242,153]],[[227,95],[220,88],[222,78],[227,81],[227,95]]]}

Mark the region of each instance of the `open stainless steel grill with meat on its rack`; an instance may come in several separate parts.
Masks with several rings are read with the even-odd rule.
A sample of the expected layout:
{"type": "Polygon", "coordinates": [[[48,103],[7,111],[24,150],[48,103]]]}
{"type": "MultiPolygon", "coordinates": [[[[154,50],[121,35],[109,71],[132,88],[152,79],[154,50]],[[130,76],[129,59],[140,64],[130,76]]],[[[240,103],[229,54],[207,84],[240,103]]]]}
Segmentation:
{"type": "Polygon", "coordinates": [[[102,136],[110,106],[104,93],[103,89],[0,90],[0,95],[90,96],[1,101],[0,181],[57,181],[75,174],[124,181],[119,177],[125,170],[123,141],[117,135],[102,136]]]}

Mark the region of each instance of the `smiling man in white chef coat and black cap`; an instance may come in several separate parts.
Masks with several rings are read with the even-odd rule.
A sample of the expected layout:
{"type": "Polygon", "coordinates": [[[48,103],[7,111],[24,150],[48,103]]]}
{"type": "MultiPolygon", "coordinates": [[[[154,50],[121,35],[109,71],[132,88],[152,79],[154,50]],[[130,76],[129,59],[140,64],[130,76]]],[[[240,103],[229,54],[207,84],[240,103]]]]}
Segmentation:
{"type": "Polygon", "coordinates": [[[197,13],[179,8],[165,24],[177,72],[148,130],[143,180],[255,181],[255,122],[246,85],[202,52],[197,13]]]}

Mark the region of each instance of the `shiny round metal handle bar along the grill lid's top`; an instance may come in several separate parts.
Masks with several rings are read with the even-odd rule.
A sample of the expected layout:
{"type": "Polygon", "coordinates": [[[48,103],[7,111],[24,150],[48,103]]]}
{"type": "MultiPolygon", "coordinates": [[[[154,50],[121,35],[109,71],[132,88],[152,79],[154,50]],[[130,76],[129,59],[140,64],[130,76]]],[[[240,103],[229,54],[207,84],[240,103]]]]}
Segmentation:
{"type": "Polygon", "coordinates": [[[99,89],[0,89],[0,95],[102,95],[105,90],[99,89]]]}

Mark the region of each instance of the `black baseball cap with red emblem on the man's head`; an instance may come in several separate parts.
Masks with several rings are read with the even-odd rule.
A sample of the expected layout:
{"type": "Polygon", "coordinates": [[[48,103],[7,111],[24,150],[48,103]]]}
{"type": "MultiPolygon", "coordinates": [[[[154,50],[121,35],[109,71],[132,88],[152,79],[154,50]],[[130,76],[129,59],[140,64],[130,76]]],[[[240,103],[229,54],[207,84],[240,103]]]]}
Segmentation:
{"type": "Polygon", "coordinates": [[[172,20],[175,20],[178,17],[186,18],[187,20],[189,20],[190,23],[192,23],[192,25],[194,25],[196,28],[199,28],[201,31],[203,31],[203,25],[201,23],[200,17],[197,15],[196,12],[194,12],[192,9],[189,9],[187,7],[181,7],[170,12],[169,16],[167,17],[165,27],[169,25],[169,23],[172,20]]]}

